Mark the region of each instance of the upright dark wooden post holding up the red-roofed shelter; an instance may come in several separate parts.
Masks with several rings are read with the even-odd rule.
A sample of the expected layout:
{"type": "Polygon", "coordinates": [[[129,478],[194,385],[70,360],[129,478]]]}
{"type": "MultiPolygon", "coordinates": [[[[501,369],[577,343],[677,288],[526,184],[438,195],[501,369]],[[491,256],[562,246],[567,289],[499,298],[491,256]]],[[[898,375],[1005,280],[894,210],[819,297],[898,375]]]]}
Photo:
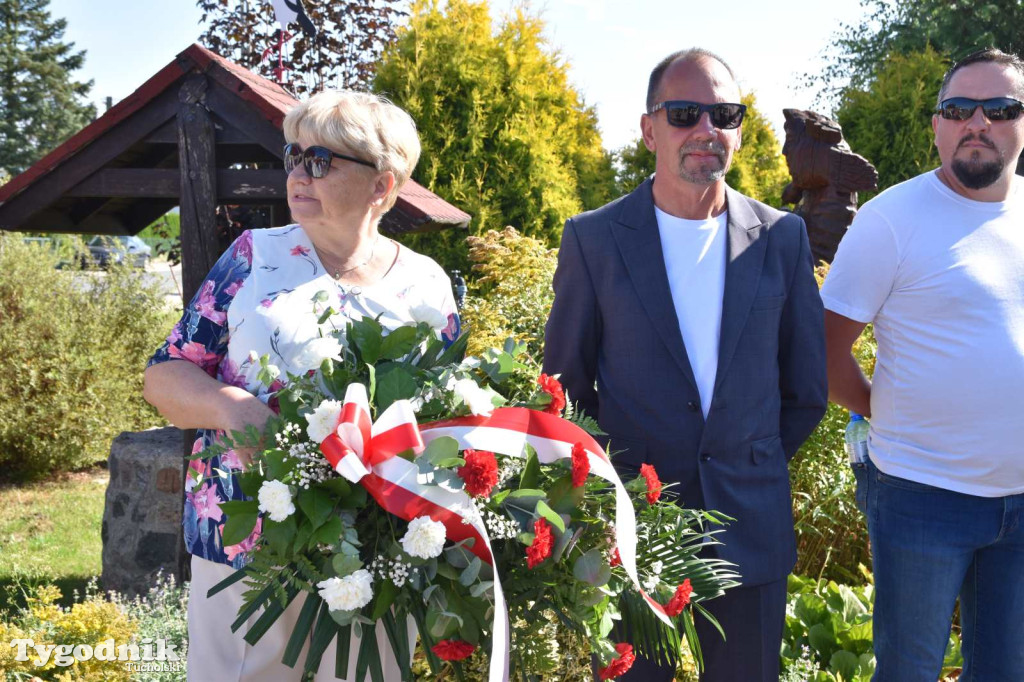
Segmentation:
{"type": "MultiPolygon", "coordinates": [[[[205,105],[206,76],[188,76],[178,90],[178,168],[181,173],[181,293],[183,304],[191,300],[203,285],[207,272],[220,256],[217,244],[217,165],[213,123],[205,105]]],[[[188,470],[188,460],[196,432],[185,431],[181,459],[181,481],[188,470]]],[[[178,525],[176,578],[190,578],[188,553],[178,525]]]]}

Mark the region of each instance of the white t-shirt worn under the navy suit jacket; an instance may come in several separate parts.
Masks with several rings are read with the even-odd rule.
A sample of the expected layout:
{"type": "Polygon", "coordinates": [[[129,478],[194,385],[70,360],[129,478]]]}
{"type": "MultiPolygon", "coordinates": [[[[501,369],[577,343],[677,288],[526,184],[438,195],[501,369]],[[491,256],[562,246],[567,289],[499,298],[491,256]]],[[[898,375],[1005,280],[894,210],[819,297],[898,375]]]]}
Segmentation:
{"type": "Polygon", "coordinates": [[[705,418],[718,372],[718,341],[725,292],[727,213],[707,220],[677,218],[654,207],[669,289],[683,344],[700,393],[705,418]]]}

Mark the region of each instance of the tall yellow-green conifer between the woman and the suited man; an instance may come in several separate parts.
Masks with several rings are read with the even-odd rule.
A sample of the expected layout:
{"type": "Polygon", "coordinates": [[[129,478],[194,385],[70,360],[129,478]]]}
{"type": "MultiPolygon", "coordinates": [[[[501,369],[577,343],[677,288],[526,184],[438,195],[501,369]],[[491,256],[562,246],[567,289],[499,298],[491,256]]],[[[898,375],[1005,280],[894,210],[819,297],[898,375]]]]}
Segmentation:
{"type": "MultiPolygon", "coordinates": [[[[417,0],[385,50],[374,89],[416,120],[414,177],[473,216],[470,233],[511,225],[558,246],[566,218],[614,196],[594,110],[569,83],[544,23],[522,8],[497,29],[486,2],[417,0]]],[[[447,267],[465,233],[408,238],[447,267]]]]}

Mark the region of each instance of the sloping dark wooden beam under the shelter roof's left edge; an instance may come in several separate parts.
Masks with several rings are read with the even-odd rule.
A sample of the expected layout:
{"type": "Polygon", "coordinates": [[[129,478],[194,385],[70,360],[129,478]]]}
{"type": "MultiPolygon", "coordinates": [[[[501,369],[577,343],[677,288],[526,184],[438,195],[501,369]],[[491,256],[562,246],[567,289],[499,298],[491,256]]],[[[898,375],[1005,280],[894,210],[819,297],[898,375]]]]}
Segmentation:
{"type": "Polygon", "coordinates": [[[172,118],[176,111],[177,96],[171,88],[0,205],[0,229],[18,229],[34,213],[52,206],[69,189],[172,118]]]}

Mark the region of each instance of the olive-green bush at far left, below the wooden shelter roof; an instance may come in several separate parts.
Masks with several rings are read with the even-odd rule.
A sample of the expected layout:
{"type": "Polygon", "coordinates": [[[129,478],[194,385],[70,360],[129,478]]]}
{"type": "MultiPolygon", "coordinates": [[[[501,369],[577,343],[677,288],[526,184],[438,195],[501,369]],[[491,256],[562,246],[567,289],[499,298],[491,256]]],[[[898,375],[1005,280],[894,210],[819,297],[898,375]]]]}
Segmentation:
{"type": "Polygon", "coordinates": [[[46,246],[0,235],[0,478],[106,459],[119,432],[162,424],[142,370],[175,313],[129,269],[56,269],[46,246]]]}

